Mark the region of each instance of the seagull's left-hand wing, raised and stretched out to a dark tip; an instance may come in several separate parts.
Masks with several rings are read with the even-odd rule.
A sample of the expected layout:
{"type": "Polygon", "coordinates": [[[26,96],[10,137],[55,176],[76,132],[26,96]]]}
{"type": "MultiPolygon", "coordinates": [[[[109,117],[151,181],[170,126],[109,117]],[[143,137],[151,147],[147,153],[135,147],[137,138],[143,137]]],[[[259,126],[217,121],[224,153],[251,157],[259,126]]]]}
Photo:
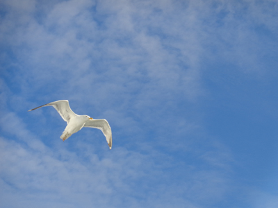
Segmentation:
{"type": "MultiPolygon", "coordinates": [[[[31,110],[36,110],[36,109],[38,109],[40,107],[44,107],[44,106],[53,106],[58,111],[60,116],[62,116],[64,121],[67,121],[67,123],[69,123],[69,121],[72,117],[76,116],[76,114],[70,109],[69,101],[66,101],[66,100],[47,103],[45,105],[35,107],[31,110]]],[[[28,111],[31,111],[31,110],[28,110],[28,111]]]]}

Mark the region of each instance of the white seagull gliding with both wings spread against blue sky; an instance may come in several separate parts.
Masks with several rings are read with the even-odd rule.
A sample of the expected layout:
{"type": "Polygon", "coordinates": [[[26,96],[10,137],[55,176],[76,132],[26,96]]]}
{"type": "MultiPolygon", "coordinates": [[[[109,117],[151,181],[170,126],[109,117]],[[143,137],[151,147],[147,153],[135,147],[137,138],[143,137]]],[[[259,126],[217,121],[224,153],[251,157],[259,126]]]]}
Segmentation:
{"type": "Polygon", "coordinates": [[[62,116],[64,121],[67,122],[67,127],[65,128],[63,134],[60,136],[60,139],[63,139],[63,141],[69,138],[72,134],[81,130],[81,128],[83,127],[98,128],[104,133],[109,148],[112,148],[112,132],[110,125],[106,121],[106,119],[92,119],[90,116],[87,115],[77,115],[70,109],[69,101],[67,100],[47,103],[28,111],[36,110],[44,106],[53,106],[58,111],[60,116],[62,116]]]}

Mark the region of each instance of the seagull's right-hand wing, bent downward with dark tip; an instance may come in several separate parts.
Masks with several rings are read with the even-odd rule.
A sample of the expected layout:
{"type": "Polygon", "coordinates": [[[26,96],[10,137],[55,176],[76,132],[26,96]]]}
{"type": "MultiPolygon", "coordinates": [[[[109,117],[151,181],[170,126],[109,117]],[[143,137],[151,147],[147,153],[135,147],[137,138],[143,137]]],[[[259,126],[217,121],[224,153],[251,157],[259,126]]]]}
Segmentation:
{"type": "Polygon", "coordinates": [[[84,127],[100,129],[106,137],[109,148],[112,148],[112,132],[109,123],[105,119],[92,119],[86,121],[84,127]]]}

